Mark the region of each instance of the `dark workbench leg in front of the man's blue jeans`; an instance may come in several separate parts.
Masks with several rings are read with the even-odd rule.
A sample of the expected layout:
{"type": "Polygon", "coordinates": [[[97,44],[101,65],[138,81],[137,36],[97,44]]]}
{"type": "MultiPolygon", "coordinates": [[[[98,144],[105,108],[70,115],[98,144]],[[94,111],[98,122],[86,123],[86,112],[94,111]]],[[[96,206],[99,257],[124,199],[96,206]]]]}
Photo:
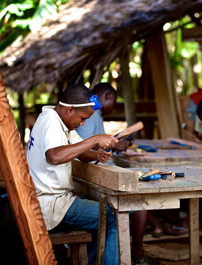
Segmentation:
{"type": "Polygon", "coordinates": [[[105,250],[107,219],[107,197],[101,193],[99,198],[99,219],[98,219],[98,244],[97,244],[97,265],[102,265],[105,250]]]}

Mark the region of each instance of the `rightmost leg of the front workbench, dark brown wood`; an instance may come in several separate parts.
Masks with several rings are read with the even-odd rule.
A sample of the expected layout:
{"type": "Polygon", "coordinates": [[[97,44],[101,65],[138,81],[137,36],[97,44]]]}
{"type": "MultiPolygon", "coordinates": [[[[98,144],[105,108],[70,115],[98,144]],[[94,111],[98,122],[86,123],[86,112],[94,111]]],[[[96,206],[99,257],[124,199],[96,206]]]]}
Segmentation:
{"type": "Polygon", "coordinates": [[[189,199],[189,264],[199,265],[199,199],[189,199]]]}

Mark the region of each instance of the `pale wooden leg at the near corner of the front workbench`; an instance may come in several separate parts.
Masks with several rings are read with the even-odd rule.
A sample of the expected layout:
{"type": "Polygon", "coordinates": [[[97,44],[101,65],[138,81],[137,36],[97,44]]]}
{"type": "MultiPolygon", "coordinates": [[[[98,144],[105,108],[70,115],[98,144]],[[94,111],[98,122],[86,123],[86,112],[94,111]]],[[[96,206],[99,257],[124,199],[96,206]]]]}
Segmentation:
{"type": "Polygon", "coordinates": [[[129,213],[116,211],[119,265],[131,265],[129,213]]]}

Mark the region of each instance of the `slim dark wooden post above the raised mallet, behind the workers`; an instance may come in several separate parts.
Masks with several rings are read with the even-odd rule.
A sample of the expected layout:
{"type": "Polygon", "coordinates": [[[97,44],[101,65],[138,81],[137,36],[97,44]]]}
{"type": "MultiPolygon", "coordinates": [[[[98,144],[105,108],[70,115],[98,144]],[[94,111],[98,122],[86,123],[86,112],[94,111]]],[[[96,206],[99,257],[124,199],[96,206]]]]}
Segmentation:
{"type": "Polygon", "coordinates": [[[127,126],[136,123],[136,106],[134,105],[134,93],[132,81],[129,74],[129,59],[127,48],[123,51],[121,58],[121,80],[124,95],[124,110],[127,126]]]}

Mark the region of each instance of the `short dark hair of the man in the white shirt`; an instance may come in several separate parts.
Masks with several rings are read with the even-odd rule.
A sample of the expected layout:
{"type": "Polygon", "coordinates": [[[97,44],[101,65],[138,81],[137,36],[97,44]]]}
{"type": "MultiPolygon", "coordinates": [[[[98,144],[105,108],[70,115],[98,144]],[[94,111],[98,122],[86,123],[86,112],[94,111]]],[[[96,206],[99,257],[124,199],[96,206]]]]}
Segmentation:
{"type": "MultiPolygon", "coordinates": [[[[62,93],[60,101],[66,104],[85,104],[90,103],[91,91],[84,84],[71,84],[62,93]]],[[[76,111],[87,111],[92,106],[77,107],[76,111]]]]}

